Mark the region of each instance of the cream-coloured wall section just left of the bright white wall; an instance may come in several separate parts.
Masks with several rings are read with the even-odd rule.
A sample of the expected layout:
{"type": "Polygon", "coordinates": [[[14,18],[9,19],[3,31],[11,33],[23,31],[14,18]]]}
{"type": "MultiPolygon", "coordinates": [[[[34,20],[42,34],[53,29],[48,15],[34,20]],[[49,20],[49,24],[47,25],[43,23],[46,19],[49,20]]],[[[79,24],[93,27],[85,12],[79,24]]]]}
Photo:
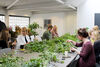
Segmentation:
{"type": "Polygon", "coordinates": [[[74,34],[77,29],[77,13],[76,12],[67,12],[65,13],[65,24],[64,32],[74,34]]]}

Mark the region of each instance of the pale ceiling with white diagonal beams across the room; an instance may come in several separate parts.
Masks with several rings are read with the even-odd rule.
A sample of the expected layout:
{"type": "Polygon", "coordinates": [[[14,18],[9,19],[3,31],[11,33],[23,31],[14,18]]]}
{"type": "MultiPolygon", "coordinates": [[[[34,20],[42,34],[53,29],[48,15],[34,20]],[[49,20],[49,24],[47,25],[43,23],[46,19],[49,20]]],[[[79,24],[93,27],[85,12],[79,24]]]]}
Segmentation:
{"type": "Polygon", "coordinates": [[[32,13],[75,11],[85,0],[0,0],[0,7],[32,13]]]}

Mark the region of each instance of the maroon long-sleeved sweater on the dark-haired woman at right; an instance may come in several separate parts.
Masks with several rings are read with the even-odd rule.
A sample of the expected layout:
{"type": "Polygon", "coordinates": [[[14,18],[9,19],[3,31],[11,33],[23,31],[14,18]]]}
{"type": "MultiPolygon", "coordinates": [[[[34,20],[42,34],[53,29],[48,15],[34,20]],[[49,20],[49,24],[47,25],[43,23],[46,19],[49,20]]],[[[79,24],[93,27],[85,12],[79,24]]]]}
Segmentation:
{"type": "Polygon", "coordinates": [[[95,67],[96,60],[92,43],[90,41],[85,44],[77,43],[76,46],[82,46],[78,66],[95,67]]]}

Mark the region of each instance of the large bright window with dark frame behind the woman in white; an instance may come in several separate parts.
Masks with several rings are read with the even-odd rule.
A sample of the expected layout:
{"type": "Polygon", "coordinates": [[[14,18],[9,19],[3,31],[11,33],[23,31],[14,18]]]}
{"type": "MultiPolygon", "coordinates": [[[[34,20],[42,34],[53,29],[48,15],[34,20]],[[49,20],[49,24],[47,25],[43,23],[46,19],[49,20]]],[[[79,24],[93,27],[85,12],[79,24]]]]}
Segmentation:
{"type": "Polygon", "coordinates": [[[28,27],[30,22],[29,17],[23,17],[23,16],[9,16],[9,26],[15,30],[15,26],[19,27],[28,27]]]}

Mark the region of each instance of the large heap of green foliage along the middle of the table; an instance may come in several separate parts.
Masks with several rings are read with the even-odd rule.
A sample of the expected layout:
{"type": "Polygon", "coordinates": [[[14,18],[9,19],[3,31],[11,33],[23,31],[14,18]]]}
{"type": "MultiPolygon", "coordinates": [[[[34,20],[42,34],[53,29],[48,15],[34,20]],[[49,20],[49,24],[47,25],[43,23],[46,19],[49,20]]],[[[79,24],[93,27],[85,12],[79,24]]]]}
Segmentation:
{"type": "Polygon", "coordinates": [[[70,51],[71,47],[75,47],[72,43],[66,43],[66,40],[71,39],[74,41],[79,41],[75,35],[65,34],[53,40],[43,40],[41,42],[35,41],[26,45],[26,49],[31,52],[43,52],[49,50],[50,52],[64,53],[65,51],[70,51]]]}

